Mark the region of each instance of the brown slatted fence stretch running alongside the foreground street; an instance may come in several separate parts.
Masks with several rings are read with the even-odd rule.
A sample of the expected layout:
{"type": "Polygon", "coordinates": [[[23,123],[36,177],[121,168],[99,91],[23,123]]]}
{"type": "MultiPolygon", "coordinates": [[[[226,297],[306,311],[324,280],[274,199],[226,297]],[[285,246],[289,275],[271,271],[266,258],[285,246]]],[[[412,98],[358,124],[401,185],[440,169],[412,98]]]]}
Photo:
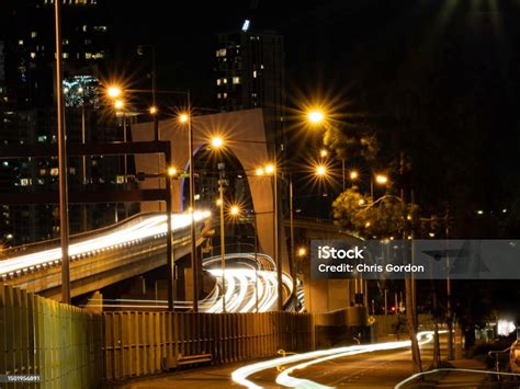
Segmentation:
{"type": "Polygon", "coordinates": [[[315,347],[317,325],[344,323],[344,313],[105,312],[104,377],[161,373],[167,361],[212,355],[213,364],[315,347]]]}

